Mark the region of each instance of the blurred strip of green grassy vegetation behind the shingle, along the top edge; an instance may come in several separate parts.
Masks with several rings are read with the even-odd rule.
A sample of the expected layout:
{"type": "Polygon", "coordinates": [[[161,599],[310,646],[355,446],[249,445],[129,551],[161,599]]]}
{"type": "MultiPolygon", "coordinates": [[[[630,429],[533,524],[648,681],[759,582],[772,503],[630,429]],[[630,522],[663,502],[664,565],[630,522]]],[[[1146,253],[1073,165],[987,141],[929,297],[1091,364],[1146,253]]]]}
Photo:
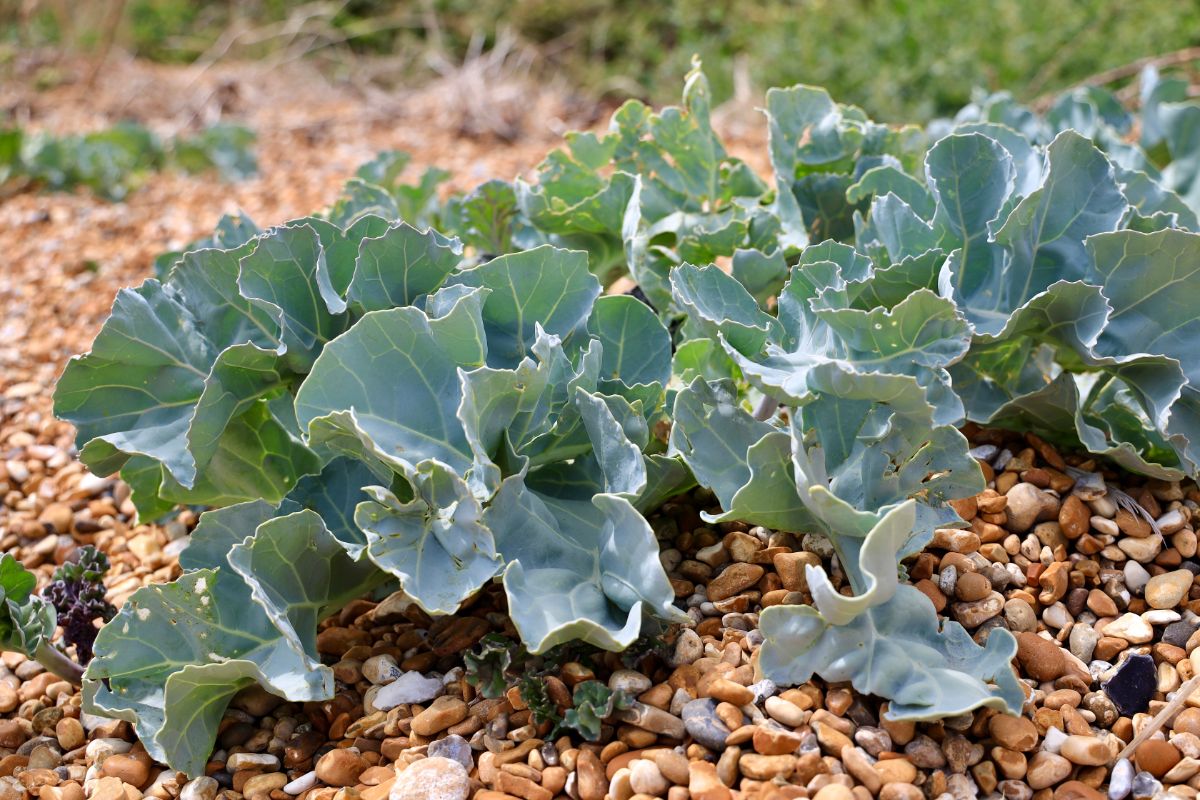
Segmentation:
{"type": "MultiPolygon", "coordinates": [[[[282,40],[296,40],[280,23],[307,14],[299,30],[311,34],[313,20],[323,25],[312,35],[316,49],[407,56],[406,80],[415,82],[428,74],[431,50],[461,60],[473,38],[484,37],[486,49],[508,30],[535,46],[548,71],[598,96],[672,102],[696,53],[718,100],[732,95],[740,64],[756,90],[818,84],[888,121],[950,113],[977,86],[1030,100],[1102,70],[1200,44],[1195,0],[108,1],[120,4],[116,44],[163,61],[193,60],[235,25],[275,25],[278,35],[244,37],[228,49],[265,56],[282,40]]],[[[35,4],[22,25],[5,18],[14,19],[29,1],[0,0],[0,29],[26,43],[64,43],[56,22],[64,14],[55,13],[64,4],[73,42],[104,41],[78,26],[73,0],[35,4]]]]}

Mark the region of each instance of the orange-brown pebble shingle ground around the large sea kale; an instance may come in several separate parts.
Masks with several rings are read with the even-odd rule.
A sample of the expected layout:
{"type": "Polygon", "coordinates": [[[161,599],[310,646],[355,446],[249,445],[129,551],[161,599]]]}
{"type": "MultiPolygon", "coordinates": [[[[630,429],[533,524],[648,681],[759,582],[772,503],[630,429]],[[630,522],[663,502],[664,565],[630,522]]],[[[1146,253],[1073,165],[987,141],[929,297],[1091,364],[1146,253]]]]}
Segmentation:
{"type": "MultiPolygon", "coordinates": [[[[43,581],[85,543],[109,554],[118,604],[178,572],[194,518],[136,524],[127,489],[86,473],[70,426],[49,414],[65,360],[86,349],[116,289],[149,275],[155,254],[226,211],[270,223],[320,207],[376,150],[408,150],[415,164],[473,184],[528,169],[557,133],[530,127],[517,146],[462,138],[462,120],[437,113],[445,88],[383,102],[286,78],[118,64],[88,102],[71,84],[41,95],[0,89],[6,107],[54,130],[122,112],[170,125],[217,103],[240,109],[260,136],[252,181],[163,174],[121,204],[85,194],[0,201],[0,547],[43,581]]],[[[534,94],[528,106],[532,119],[571,113],[552,96],[534,94]]],[[[323,627],[334,699],[244,692],[206,775],[192,781],[154,764],[127,723],[82,715],[70,685],[4,654],[0,800],[1196,796],[1200,693],[1174,694],[1200,667],[1200,491],[1108,473],[1034,438],[967,434],[989,488],[959,504],[971,528],[940,533],[910,575],[978,640],[996,627],[1016,634],[1027,686],[1020,717],[982,710],[898,724],[882,718],[877,698],[847,686],[756,681],[757,613],[808,600],[806,564],[838,581],[832,551],[815,535],[704,527],[698,512],[712,498],[695,493],[652,521],[691,625],[634,658],[581,649],[542,676],[559,711],[590,679],[636,698],[596,742],[552,738],[516,687],[488,699],[467,682],[462,652],[488,633],[512,634],[503,593],[486,590],[438,620],[394,596],[352,603],[323,627]],[[1126,753],[1135,736],[1145,740],[1126,753]]]]}

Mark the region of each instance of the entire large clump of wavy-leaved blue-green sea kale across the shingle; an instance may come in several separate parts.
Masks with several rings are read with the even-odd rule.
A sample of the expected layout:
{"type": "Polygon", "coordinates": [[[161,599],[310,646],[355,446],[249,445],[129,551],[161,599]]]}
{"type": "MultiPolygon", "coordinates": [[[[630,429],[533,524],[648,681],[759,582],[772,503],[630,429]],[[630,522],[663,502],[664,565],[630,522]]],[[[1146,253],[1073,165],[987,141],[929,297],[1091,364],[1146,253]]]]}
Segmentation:
{"type": "Polygon", "coordinates": [[[697,70],[533,182],[439,201],[385,154],[323,215],[223,221],[56,390],[143,517],[212,509],[184,576],[100,632],[88,710],[200,774],[241,688],[332,694],[317,624],[389,583],[437,615],[499,582],[529,654],[622,650],[685,620],[644,515],[698,483],[710,522],[836,553],[810,606],[762,612],[766,676],[894,718],[1018,711],[1013,637],[938,618],[902,563],[985,486],[967,421],[1198,474],[1200,106],[1145,83],[1136,124],[1085,90],[929,131],[772,90],[763,180],[697,70]]]}

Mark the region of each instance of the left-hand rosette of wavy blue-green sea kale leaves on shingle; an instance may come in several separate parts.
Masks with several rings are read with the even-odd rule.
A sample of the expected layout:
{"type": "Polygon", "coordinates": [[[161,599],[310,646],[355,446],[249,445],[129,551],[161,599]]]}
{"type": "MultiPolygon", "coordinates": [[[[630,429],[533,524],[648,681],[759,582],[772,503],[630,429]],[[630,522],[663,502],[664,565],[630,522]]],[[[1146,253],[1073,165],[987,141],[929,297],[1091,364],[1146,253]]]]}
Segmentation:
{"type": "MultiPolygon", "coordinates": [[[[344,209],[343,209],[344,210],[344,209]]],[[[203,770],[229,698],[331,696],[317,622],[389,579],[431,614],[498,579],[524,645],[682,619],[640,510],[691,485],[652,435],[671,341],[587,255],[486,263],[373,215],[185,254],[121,293],[59,413],[145,515],[202,516],[178,582],[96,642],[88,708],[203,770]]]]}

